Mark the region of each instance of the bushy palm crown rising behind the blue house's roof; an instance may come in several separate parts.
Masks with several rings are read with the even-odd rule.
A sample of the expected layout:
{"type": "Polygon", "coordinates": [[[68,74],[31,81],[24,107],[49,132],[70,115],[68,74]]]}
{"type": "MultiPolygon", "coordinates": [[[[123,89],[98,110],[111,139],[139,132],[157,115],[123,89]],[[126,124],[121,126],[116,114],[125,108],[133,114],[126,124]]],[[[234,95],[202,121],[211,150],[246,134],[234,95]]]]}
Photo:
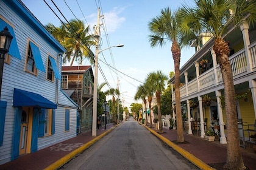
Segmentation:
{"type": "Polygon", "coordinates": [[[94,54],[90,50],[90,47],[96,44],[93,41],[94,35],[88,34],[89,26],[85,27],[83,21],[71,19],[69,23],[64,23],[60,27],[48,24],[46,29],[65,47],[63,63],[68,61],[72,66],[74,60],[79,60],[81,64],[84,58],[88,58],[91,64],[94,63],[94,54]]]}

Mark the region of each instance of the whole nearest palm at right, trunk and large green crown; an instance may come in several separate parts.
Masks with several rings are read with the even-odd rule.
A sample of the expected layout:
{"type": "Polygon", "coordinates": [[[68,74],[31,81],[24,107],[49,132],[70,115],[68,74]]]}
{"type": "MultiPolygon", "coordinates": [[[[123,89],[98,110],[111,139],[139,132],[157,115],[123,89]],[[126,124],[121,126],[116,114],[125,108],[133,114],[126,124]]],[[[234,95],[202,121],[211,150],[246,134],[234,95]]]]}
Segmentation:
{"type": "Polygon", "coordinates": [[[227,120],[227,161],[224,168],[245,169],[239,146],[235,87],[229,62],[230,49],[223,35],[227,33],[230,24],[240,24],[239,22],[244,21],[248,15],[249,22],[256,21],[256,1],[194,0],[194,2],[196,6],[193,8],[183,5],[177,16],[179,27],[184,35],[209,32],[215,39],[213,50],[221,67],[227,120]]]}

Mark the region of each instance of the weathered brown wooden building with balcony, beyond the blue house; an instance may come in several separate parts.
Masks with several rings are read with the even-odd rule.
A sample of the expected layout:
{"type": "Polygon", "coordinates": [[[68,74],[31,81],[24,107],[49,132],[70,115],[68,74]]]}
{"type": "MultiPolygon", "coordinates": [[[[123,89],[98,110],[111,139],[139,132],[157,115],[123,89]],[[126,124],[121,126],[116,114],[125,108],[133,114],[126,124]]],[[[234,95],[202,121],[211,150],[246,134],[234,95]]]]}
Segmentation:
{"type": "Polygon", "coordinates": [[[63,66],[62,89],[80,107],[77,132],[91,130],[93,115],[93,70],[91,66],[63,66]]]}

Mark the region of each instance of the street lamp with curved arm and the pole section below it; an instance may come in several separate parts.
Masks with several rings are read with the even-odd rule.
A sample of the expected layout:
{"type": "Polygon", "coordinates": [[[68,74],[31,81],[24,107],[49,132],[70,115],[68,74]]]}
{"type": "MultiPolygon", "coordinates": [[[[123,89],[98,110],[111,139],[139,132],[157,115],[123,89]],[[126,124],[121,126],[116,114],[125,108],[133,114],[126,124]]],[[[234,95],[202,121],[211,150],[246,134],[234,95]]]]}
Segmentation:
{"type": "Polygon", "coordinates": [[[96,54],[95,54],[95,66],[94,66],[94,83],[93,83],[93,124],[92,124],[92,136],[96,137],[96,123],[97,123],[97,84],[98,84],[98,56],[99,53],[110,49],[112,47],[124,47],[123,44],[118,44],[117,46],[108,47],[107,49],[99,50],[99,36],[96,38],[96,54]]]}

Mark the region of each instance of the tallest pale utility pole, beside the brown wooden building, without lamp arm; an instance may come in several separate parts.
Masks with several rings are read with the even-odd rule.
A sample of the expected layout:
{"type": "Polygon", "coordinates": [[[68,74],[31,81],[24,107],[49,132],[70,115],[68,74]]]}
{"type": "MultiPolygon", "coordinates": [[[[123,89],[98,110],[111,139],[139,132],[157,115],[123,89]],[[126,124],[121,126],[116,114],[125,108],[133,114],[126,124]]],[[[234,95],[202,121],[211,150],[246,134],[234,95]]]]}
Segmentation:
{"type": "Polygon", "coordinates": [[[99,18],[100,9],[98,8],[97,25],[94,26],[94,38],[96,41],[96,52],[95,52],[95,66],[94,66],[94,84],[93,84],[93,120],[92,120],[92,136],[96,137],[96,126],[97,126],[97,101],[98,101],[98,55],[99,55],[99,18]]]}

